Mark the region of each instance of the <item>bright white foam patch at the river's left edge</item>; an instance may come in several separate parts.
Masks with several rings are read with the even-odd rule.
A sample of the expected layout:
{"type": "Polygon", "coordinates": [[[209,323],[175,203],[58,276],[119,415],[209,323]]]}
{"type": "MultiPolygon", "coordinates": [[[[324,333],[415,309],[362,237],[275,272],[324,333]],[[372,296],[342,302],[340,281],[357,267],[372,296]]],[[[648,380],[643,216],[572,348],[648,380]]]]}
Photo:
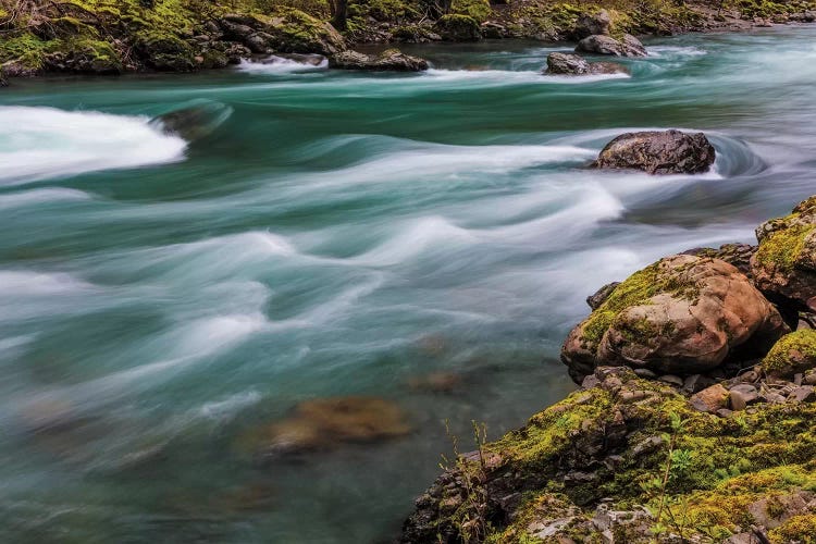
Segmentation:
{"type": "Polygon", "coordinates": [[[147,118],[0,107],[0,185],[180,161],[187,144],[147,118]]]}

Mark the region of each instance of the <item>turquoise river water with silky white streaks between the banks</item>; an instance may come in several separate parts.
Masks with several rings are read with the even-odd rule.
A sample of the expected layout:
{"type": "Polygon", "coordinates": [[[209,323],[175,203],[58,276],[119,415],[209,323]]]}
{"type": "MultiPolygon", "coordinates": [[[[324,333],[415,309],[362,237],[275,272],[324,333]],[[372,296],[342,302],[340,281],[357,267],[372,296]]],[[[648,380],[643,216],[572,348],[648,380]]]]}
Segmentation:
{"type": "Polygon", "coordinates": [[[423,47],[422,75],[292,61],[0,92],[0,541],[383,542],[450,450],[571,390],[584,297],[752,242],[814,190],[816,28],[651,41],[631,77],[540,44],[423,47]],[[149,120],[198,108],[166,134],[149,120]],[[713,172],[584,170],[703,129],[713,172]],[[450,392],[410,387],[452,373],[450,392]],[[298,401],[373,395],[397,440],[258,463],[298,401]]]}

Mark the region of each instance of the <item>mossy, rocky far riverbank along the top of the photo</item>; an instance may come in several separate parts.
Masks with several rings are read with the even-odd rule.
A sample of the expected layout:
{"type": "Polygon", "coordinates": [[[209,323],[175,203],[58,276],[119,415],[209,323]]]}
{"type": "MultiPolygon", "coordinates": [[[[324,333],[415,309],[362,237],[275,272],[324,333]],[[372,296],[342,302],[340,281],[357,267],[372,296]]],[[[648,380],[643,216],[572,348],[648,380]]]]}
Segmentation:
{"type": "MultiPolygon", "coordinates": [[[[590,52],[606,52],[611,45],[611,51],[618,47],[625,51],[620,54],[642,54],[629,47],[628,35],[741,30],[816,20],[816,3],[809,0],[625,1],[603,12],[602,28],[596,15],[604,3],[0,0],[0,86],[10,77],[51,73],[191,72],[272,53],[339,55],[332,65],[341,67],[392,67],[381,60],[349,57],[346,51],[360,44],[528,38],[582,40],[583,50],[590,52]]],[[[399,59],[393,67],[422,70],[423,65],[411,58],[399,59]]]]}

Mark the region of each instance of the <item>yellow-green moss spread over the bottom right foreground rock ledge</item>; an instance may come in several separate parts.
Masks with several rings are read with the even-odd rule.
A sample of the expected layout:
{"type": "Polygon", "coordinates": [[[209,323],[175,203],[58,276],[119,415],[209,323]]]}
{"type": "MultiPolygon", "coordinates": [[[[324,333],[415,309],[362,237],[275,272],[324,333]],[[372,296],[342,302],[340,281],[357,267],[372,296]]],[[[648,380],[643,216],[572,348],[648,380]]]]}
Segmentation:
{"type": "MultiPolygon", "coordinates": [[[[668,504],[673,516],[685,517],[690,532],[721,541],[752,522],[747,506],[756,500],[816,489],[816,430],[812,424],[816,404],[762,405],[756,413],[718,418],[692,409],[685,397],[668,386],[623,372],[626,391],[644,393],[640,400],[623,401],[602,388],[576,392],[533,416],[523,429],[485,446],[485,452],[503,459],[505,472],[537,482],[527,487],[516,521],[496,527],[489,542],[521,542],[531,520],[547,518],[547,505],[586,505],[573,511],[579,520],[591,516],[602,497],[614,498],[622,509],[644,500],[655,507],[656,499],[644,497],[641,484],[662,477],[665,443],[638,455],[632,452],[667,432],[672,412],[684,420],[676,448],[690,453],[690,465],[670,479],[668,504]],[[619,410],[626,412],[630,425],[620,463],[614,470],[595,467],[594,479],[585,484],[560,483],[559,467],[579,462],[580,470],[576,450],[586,447],[582,441],[588,436],[596,434],[601,441],[614,429],[619,410]],[[688,505],[685,514],[680,506],[683,503],[688,505]]],[[[774,505],[771,499],[769,510],[774,505]]]]}

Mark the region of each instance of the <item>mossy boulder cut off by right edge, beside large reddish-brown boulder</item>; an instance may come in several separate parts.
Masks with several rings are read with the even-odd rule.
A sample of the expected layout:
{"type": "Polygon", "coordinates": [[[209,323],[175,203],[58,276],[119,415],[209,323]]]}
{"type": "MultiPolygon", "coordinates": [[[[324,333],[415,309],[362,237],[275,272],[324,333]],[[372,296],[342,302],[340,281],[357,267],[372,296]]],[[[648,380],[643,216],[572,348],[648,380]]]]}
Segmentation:
{"type": "Polygon", "coordinates": [[[759,225],[756,237],[751,271],[759,290],[793,313],[816,310],[816,197],[759,225]]]}

